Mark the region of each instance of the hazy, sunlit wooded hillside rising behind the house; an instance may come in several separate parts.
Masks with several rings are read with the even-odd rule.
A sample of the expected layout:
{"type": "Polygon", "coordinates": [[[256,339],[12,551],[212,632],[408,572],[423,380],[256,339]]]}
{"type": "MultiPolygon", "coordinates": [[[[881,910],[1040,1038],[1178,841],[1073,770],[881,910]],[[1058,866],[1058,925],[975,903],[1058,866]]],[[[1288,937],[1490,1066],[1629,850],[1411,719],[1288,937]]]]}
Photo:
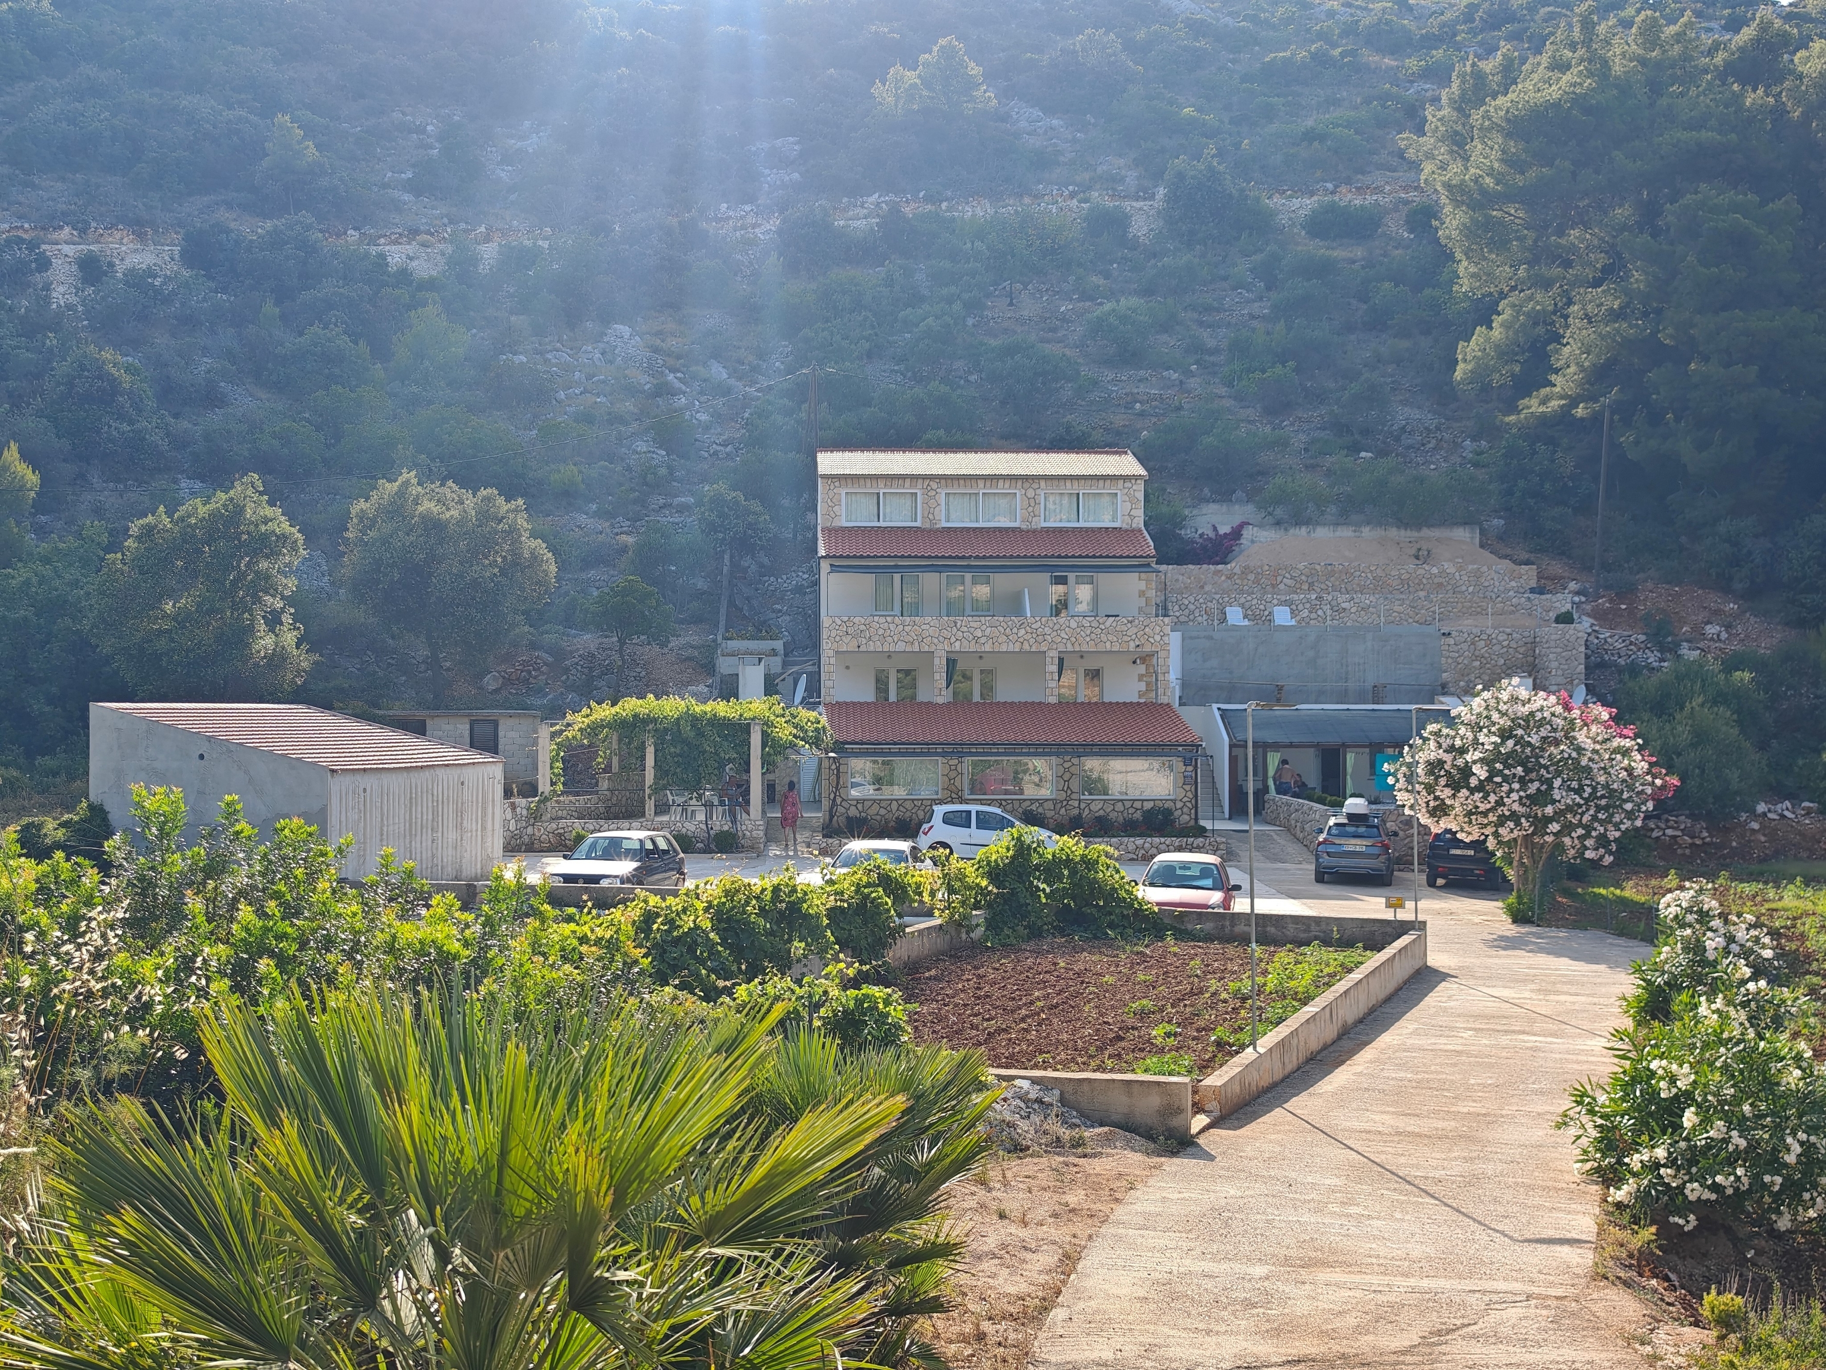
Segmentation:
{"type": "Polygon", "coordinates": [[[4,4],[0,780],[110,694],[480,698],[623,575],[805,625],[813,367],[825,446],[1134,446],[1167,559],[1238,490],[1583,555],[1611,396],[1620,574],[1819,623],[1813,5],[4,4]],[[247,475],[241,627],[126,641],[247,475]]]}

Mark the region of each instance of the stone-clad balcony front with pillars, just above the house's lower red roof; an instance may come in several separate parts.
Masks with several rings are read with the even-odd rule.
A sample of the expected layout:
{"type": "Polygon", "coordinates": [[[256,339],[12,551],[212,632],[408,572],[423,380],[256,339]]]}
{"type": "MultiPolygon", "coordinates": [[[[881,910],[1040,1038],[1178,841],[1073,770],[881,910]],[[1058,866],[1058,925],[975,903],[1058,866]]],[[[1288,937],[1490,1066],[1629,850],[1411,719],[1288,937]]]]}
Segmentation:
{"type": "MultiPolygon", "coordinates": [[[[1222,617],[1222,614],[1220,614],[1222,617]]],[[[1046,700],[1059,700],[1059,652],[1130,652],[1141,656],[1141,698],[1160,701],[1167,689],[1172,623],[1158,617],[827,617],[824,621],[824,698],[836,698],[838,652],[929,652],[933,680],[944,680],[944,658],[966,652],[1044,652],[1046,700]]]]}

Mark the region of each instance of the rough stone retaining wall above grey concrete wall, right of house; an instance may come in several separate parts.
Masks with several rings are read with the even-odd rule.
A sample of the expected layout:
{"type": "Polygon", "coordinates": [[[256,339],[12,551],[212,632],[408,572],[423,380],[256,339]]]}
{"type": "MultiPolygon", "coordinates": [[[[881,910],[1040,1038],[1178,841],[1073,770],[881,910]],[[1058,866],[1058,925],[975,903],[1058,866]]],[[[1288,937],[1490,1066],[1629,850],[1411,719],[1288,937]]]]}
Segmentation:
{"type": "Polygon", "coordinates": [[[1523,617],[1547,623],[1572,608],[1565,594],[1530,594],[1534,566],[1366,566],[1304,563],[1293,566],[1161,566],[1167,612],[1180,623],[1223,623],[1240,606],[1253,623],[1271,623],[1276,605],[1307,627],[1457,623],[1523,617]]]}

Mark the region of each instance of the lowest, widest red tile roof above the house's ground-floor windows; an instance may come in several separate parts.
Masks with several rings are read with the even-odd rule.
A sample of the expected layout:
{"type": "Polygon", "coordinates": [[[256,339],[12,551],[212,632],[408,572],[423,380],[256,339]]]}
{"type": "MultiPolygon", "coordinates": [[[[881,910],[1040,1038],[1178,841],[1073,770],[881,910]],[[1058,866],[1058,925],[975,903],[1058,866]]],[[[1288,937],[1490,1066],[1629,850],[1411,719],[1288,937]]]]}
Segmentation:
{"type": "Polygon", "coordinates": [[[840,747],[1198,747],[1170,703],[827,703],[840,747]]]}

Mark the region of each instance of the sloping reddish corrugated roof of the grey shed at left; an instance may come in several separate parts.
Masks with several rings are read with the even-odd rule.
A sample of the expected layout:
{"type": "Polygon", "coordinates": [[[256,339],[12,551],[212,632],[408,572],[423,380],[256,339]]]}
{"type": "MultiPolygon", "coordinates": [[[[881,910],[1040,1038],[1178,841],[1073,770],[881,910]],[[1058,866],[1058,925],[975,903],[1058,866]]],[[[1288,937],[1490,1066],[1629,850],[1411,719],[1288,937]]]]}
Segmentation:
{"type": "Polygon", "coordinates": [[[396,771],[416,765],[500,765],[486,751],[433,742],[305,703],[102,703],[197,736],[257,747],[331,771],[396,771]]]}

